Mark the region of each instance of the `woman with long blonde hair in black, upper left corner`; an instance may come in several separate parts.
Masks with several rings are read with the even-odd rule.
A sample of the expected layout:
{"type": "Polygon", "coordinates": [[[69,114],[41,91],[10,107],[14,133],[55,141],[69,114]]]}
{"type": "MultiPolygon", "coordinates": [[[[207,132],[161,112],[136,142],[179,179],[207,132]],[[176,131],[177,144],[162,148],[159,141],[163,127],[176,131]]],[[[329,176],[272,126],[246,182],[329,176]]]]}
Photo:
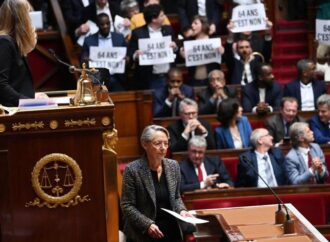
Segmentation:
{"type": "Polygon", "coordinates": [[[0,104],[18,106],[34,98],[31,72],[25,57],[36,46],[27,0],[5,0],[0,7],[0,104]]]}

